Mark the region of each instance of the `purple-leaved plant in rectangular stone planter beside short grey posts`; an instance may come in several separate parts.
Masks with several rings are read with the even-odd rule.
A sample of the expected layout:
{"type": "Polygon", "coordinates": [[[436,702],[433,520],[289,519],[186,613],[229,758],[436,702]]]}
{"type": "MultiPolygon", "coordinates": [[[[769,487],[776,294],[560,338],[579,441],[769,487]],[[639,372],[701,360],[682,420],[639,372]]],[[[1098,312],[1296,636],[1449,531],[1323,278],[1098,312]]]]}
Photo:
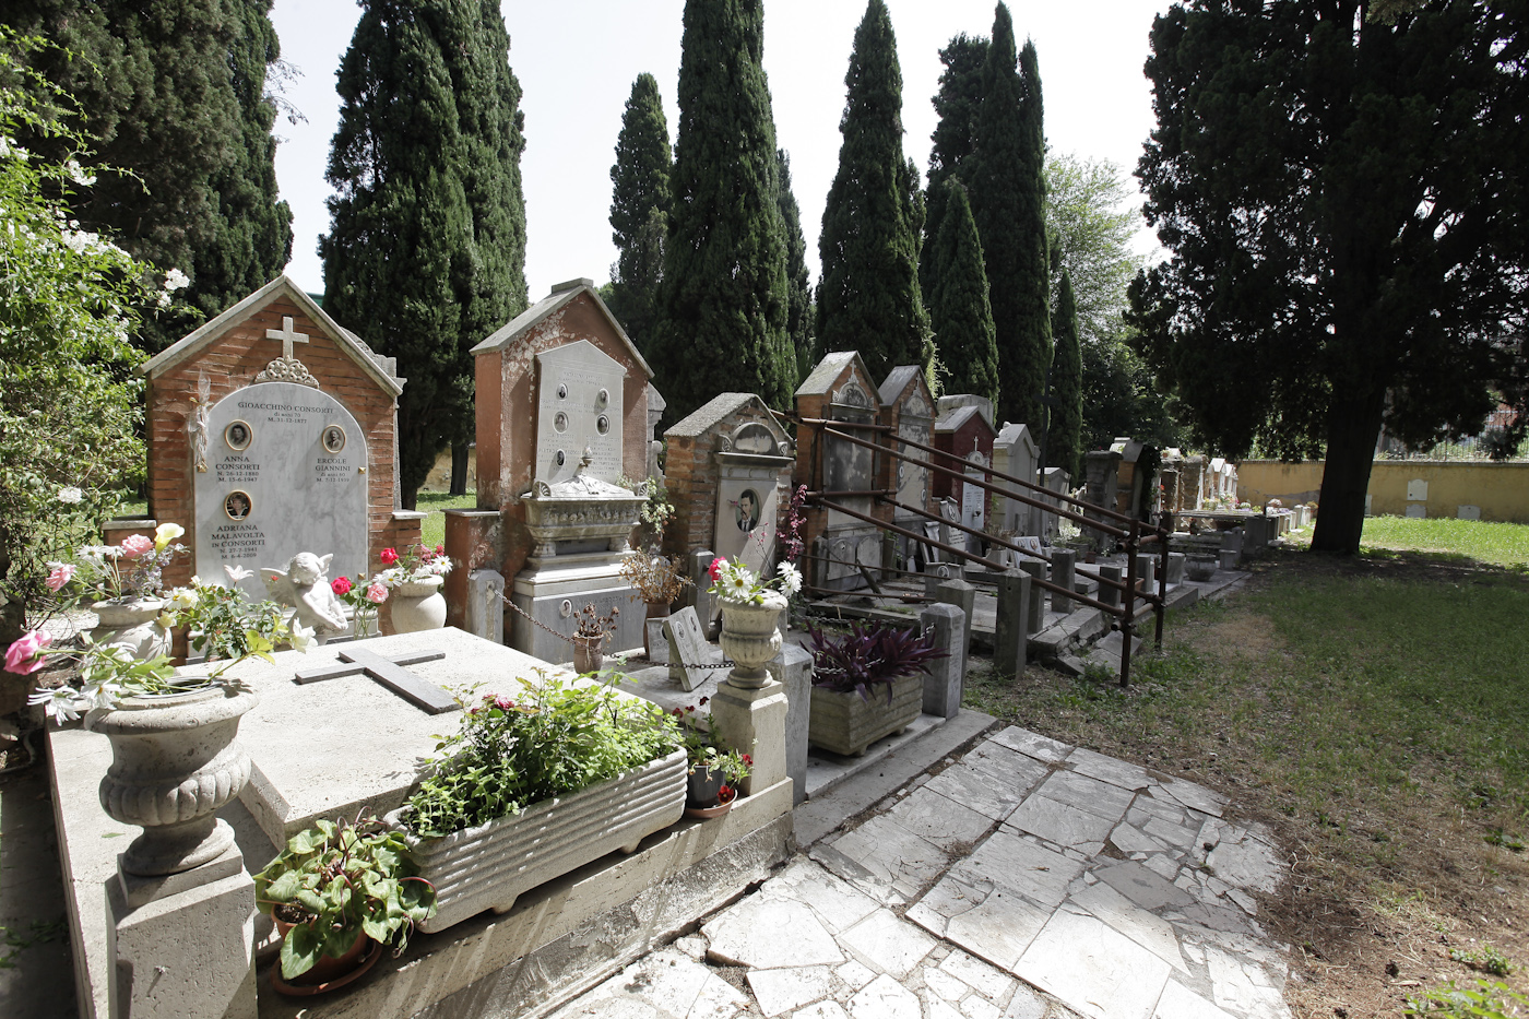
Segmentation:
{"type": "Polygon", "coordinates": [[[832,636],[807,627],[812,652],[812,708],[807,741],[858,756],[882,736],[902,731],[924,711],[928,661],[945,658],[933,633],[917,627],[853,624],[832,636]],[[885,699],[882,699],[885,696],[885,699]]]}

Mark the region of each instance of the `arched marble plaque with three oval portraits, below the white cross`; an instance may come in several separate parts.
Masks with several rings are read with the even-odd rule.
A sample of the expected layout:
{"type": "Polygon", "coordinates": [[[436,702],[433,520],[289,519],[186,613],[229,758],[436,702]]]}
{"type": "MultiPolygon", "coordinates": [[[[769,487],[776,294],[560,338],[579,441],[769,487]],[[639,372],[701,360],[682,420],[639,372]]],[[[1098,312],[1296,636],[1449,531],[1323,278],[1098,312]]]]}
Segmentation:
{"type": "Polygon", "coordinates": [[[344,404],[297,383],[257,383],[208,415],[208,470],[196,473],[196,571],[226,583],[223,566],[265,598],[260,566],[298,552],[333,555],[329,575],[367,563],[367,441],[344,404]]]}

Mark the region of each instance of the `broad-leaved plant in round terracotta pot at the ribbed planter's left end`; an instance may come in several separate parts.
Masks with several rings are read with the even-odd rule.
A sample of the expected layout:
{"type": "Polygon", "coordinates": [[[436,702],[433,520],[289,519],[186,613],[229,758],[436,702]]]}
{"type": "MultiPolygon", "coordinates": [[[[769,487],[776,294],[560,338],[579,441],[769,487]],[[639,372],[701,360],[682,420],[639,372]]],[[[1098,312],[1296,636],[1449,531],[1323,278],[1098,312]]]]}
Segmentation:
{"type": "Polygon", "coordinates": [[[436,912],[404,832],[376,817],[321,820],[287,840],[255,875],[255,904],[281,932],[278,991],[310,995],[349,984],[436,912]]]}

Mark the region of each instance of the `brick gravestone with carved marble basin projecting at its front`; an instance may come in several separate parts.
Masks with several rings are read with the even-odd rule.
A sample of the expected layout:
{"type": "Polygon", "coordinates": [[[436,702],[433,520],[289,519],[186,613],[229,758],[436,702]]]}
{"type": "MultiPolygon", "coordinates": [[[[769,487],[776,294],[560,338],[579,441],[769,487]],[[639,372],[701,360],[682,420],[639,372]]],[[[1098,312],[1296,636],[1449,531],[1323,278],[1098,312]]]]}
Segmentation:
{"type": "MultiPolygon", "coordinates": [[[[621,609],[609,650],[642,644],[642,604],[619,575],[642,497],[653,439],[653,372],[590,280],[552,288],[541,301],[472,347],[477,367],[479,511],[446,517],[448,612],[466,615],[474,571],[495,569],[521,612],[508,643],[569,661],[572,615],[621,609]]],[[[451,618],[451,617],[448,617],[451,618]]]]}

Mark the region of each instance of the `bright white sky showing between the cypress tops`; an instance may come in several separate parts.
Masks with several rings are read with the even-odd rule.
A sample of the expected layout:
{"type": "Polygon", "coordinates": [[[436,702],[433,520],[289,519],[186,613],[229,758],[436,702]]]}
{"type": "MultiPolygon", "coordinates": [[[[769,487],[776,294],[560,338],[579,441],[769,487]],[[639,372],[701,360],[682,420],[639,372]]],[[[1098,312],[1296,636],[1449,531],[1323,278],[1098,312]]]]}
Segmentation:
{"type": "MultiPolygon", "coordinates": [[[[992,29],[989,0],[888,0],[904,78],[904,153],[927,170],[939,49],[957,32],[992,29]]],[[[1046,138],[1053,151],[1110,159],[1135,168],[1153,129],[1151,93],[1142,77],[1147,34],[1167,0],[1093,0],[1086,5],[1012,8],[1020,41],[1029,35],[1046,83],[1046,138]]],[[[509,63],[524,96],[526,280],[531,298],[560,280],[609,278],[610,165],[631,83],[657,78],[670,130],[679,122],[680,15],[683,0],[593,0],[573,8],[503,5],[511,35],[509,63]]],[[[807,262],[818,278],[823,205],[838,168],[844,112],[844,67],[864,15],[862,3],[766,0],[764,70],[777,141],[790,153],[792,190],[801,205],[807,262]]],[[[324,182],[330,139],[339,116],[335,70],[350,43],[359,8],[350,0],[277,0],[272,11],[281,57],[301,77],[286,101],[306,122],[278,119],[277,176],[294,211],[287,274],[304,289],[323,289],[315,243],[329,231],[324,182]]],[[[673,141],[673,138],[671,138],[673,141]]],[[[1139,199],[1138,199],[1139,200],[1139,199]]],[[[1138,249],[1154,246],[1138,233],[1138,249]]]]}

